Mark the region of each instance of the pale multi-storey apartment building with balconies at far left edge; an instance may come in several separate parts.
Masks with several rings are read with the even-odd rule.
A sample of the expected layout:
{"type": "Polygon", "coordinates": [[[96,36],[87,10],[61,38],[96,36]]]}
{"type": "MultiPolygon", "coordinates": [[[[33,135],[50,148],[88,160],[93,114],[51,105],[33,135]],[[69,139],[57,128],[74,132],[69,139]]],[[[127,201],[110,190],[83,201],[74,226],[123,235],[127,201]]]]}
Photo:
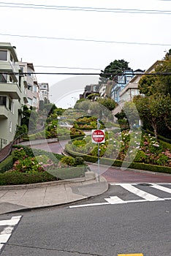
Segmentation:
{"type": "Polygon", "coordinates": [[[0,149],[10,143],[20,125],[26,87],[19,75],[18,56],[9,42],[0,42],[0,149]]]}

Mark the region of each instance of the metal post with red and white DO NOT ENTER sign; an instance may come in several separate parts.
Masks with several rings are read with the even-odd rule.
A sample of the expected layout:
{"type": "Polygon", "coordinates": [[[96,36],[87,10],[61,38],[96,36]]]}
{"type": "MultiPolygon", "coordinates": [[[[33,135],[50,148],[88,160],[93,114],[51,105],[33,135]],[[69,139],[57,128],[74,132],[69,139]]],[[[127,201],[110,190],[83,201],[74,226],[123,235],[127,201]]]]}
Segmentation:
{"type": "Polygon", "coordinates": [[[99,181],[99,143],[105,142],[104,129],[99,129],[99,119],[97,119],[97,129],[91,130],[91,140],[98,145],[98,181],[99,181]]]}

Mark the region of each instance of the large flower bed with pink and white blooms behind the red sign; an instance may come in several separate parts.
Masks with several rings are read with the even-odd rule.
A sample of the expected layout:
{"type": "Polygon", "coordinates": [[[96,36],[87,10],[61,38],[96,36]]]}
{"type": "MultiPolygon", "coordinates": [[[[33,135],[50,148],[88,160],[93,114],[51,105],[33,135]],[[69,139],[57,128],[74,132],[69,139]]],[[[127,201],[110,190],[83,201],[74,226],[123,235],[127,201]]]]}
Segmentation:
{"type": "MultiPolygon", "coordinates": [[[[129,130],[108,132],[105,143],[100,144],[99,149],[100,157],[171,167],[170,148],[150,134],[129,130]]],[[[66,151],[69,150],[93,157],[97,157],[98,153],[97,145],[91,142],[91,136],[69,143],[66,151]]]]}

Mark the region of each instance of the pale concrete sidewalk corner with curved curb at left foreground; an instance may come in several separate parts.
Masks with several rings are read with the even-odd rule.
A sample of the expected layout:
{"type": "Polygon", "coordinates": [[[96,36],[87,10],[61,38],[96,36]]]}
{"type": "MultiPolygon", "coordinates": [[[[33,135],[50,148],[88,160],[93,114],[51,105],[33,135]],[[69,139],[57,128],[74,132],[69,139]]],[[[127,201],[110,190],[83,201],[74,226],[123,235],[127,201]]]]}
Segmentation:
{"type": "Polygon", "coordinates": [[[84,178],[39,184],[0,187],[0,214],[34,208],[60,206],[101,195],[108,189],[105,178],[97,181],[93,172],[84,178]]]}

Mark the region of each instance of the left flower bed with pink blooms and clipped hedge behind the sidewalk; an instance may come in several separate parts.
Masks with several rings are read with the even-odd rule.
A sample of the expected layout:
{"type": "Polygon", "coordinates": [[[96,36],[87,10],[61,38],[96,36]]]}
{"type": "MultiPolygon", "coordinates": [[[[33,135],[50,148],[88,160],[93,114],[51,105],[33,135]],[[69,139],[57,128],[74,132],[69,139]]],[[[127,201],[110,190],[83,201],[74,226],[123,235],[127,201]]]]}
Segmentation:
{"type": "Polygon", "coordinates": [[[30,184],[85,176],[81,157],[64,157],[47,151],[17,146],[0,170],[0,185],[30,184]],[[11,159],[12,158],[12,159],[11,159]],[[11,160],[13,165],[11,165],[11,160]]]}

